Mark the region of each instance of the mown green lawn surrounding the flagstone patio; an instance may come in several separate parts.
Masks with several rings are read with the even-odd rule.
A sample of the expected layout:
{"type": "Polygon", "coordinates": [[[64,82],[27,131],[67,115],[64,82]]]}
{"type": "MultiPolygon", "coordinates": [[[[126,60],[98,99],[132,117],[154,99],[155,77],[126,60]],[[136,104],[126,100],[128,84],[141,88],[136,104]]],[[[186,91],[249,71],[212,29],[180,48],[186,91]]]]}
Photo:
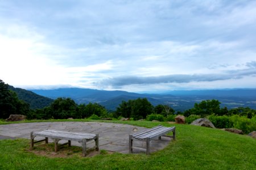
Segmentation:
{"type": "MultiPolygon", "coordinates": [[[[174,126],[167,122],[100,122],[147,128],[159,124],[174,126]]],[[[68,158],[48,158],[28,152],[26,139],[1,140],[0,169],[256,169],[255,139],[200,126],[175,126],[176,141],[151,155],[114,153],[81,158],[75,154],[68,158]]]]}

